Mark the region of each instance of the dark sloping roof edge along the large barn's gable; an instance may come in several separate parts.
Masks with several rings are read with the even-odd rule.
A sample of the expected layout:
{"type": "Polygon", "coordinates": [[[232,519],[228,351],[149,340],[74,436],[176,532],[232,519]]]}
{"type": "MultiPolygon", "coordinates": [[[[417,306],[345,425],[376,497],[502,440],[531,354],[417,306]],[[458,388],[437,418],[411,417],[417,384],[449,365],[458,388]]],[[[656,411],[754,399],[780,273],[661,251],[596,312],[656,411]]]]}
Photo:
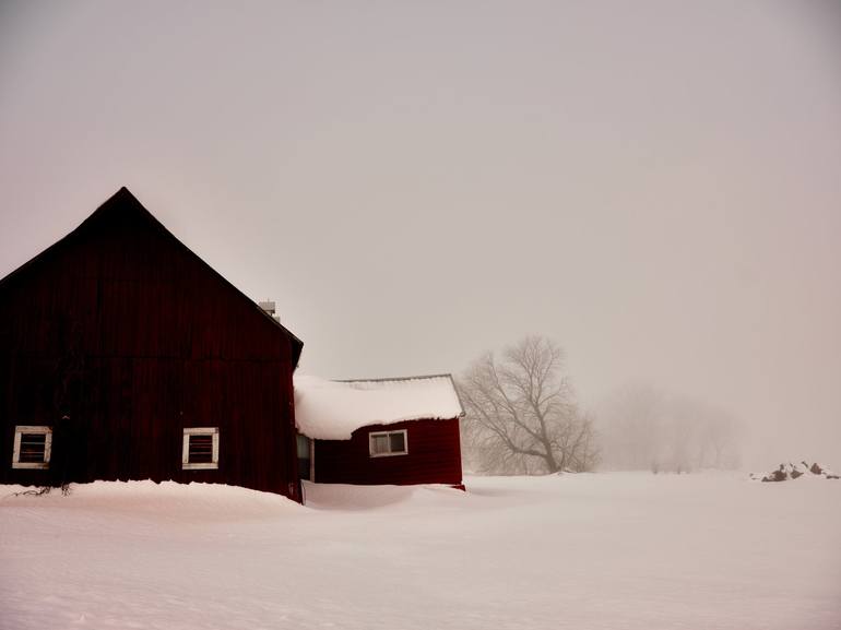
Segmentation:
{"type": "Polygon", "coordinates": [[[225,286],[227,286],[232,295],[234,295],[237,299],[247,300],[248,304],[251,305],[251,307],[253,308],[254,312],[259,313],[260,318],[262,318],[266,322],[271,322],[272,325],[277,326],[284,334],[286,334],[292,341],[293,365],[297,366],[298,359],[300,358],[300,352],[304,348],[304,342],[301,342],[298,337],[296,337],[287,328],[281,324],[272,316],[270,316],[263,309],[261,309],[257,302],[254,302],[246,294],[244,294],[230,282],[228,282],[221,273],[218,273],[215,269],[213,269],[211,265],[204,262],[201,259],[201,257],[199,257],[196,252],[193,252],[189,247],[187,247],[183,242],[178,240],[178,237],[176,237],[171,231],[169,231],[166,228],[166,226],[164,226],[163,223],[161,223],[157,218],[155,218],[155,216],[151,212],[149,212],[149,210],[146,210],[143,206],[143,204],[140,203],[138,198],[134,197],[129,191],[129,189],[126,188],[125,186],[120,188],[117,192],[115,192],[109,199],[107,199],[99,207],[97,207],[96,211],[86,219],[84,219],[79,225],[79,227],[76,227],[73,231],[71,231],[64,238],[58,240],[57,242],[55,242],[54,245],[51,245],[50,247],[42,251],[35,258],[23,263],[21,266],[19,266],[16,270],[14,270],[12,273],[7,275],[5,277],[1,278],[0,289],[2,289],[4,286],[13,282],[14,278],[19,278],[22,275],[25,275],[27,270],[34,268],[40,261],[49,258],[56,251],[66,247],[69,242],[72,242],[73,240],[80,238],[82,235],[88,233],[91,229],[93,229],[94,226],[100,224],[102,222],[110,222],[110,223],[118,224],[122,221],[126,221],[127,217],[129,216],[131,216],[132,219],[140,218],[141,221],[145,221],[150,223],[153,226],[153,228],[164,234],[167,238],[170,238],[178,247],[182,248],[190,255],[196,258],[199,262],[201,262],[202,265],[204,265],[204,268],[206,268],[206,270],[211,274],[216,276],[216,278],[218,278],[225,286]]]}

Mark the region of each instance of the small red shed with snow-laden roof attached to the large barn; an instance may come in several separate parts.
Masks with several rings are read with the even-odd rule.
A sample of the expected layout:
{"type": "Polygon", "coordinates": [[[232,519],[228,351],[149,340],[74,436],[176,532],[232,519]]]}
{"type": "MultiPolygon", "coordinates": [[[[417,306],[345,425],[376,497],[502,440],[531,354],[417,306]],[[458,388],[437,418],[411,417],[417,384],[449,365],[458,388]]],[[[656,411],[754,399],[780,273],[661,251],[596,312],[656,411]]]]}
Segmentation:
{"type": "Polygon", "coordinates": [[[295,378],[301,478],[324,484],[461,487],[450,375],[356,381],[295,378]]]}

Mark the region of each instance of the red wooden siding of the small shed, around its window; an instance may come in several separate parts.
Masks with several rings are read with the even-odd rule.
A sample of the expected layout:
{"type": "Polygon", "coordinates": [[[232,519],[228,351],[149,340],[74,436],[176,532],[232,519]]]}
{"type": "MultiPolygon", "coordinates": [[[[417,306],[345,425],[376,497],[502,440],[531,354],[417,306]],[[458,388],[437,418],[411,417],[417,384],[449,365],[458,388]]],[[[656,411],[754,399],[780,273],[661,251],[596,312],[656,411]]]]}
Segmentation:
{"type": "Polygon", "coordinates": [[[316,482],[323,484],[461,484],[459,419],[371,425],[350,440],[316,440],[316,482]],[[406,429],[408,453],[371,457],[368,436],[406,429]]]}

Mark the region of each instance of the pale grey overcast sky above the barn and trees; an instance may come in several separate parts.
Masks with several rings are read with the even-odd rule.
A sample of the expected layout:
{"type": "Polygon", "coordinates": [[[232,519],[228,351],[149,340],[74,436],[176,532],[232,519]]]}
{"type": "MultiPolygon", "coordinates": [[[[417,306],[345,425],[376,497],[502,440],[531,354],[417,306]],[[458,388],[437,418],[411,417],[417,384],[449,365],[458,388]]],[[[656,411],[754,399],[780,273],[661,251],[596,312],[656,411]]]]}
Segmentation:
{"type": "Polygon", "coordinates": [[[0,275],[123,185],[308,372],[544,333],[841,467],[841,3],[0,3],[0,275]]]}

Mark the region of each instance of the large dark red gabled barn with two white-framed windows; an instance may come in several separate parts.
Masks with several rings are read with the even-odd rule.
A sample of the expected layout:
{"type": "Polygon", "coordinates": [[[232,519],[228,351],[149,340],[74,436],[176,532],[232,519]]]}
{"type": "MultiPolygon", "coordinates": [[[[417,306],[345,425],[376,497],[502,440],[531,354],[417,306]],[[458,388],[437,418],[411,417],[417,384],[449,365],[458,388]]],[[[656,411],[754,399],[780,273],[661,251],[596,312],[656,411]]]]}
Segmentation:
{"type": "Polygon", "coordinates": [[[120,189],[0,281],[0,484],[194,480],[300,500],[301,347],[120,189]]]}

